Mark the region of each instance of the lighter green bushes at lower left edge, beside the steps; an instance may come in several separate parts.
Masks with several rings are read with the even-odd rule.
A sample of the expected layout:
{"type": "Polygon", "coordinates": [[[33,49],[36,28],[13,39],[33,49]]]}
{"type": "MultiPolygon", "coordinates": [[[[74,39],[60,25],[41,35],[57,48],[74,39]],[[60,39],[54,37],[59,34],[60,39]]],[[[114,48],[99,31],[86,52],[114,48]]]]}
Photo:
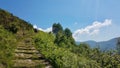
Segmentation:
{"type": "Polygon", "coordinates": [[[12,33],[7,32],[0,26],[0,64],[6,68],[11,67],[13,52],[15,49],[16,39],[12,33]]]}

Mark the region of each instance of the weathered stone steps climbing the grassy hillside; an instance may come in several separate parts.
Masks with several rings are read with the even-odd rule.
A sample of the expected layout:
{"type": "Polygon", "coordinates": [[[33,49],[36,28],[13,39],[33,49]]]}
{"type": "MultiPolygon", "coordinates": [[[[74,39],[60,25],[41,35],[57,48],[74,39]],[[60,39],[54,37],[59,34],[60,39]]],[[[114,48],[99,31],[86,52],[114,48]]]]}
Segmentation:
{"type": "Polygon", "coordinates": [[[14,54],[13,68],[53,68],[49,61],[36,50],[30,40],[20,41],[14,54]]]}

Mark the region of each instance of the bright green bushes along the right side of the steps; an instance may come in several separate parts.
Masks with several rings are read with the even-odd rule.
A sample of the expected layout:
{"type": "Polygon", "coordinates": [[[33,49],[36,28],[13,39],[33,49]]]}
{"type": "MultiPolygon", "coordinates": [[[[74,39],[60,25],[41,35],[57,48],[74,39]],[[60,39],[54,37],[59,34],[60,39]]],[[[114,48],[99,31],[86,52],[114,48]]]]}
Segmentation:
{"type": "Polygon", "coordinates": [[[58,47],[57,44],[54,44],[55,38],[52,34],[40,31],[34,40],[36,48],[50,60],[55,68],[99,68],[96,61],[78,56],[67,48],[58,47]]]}

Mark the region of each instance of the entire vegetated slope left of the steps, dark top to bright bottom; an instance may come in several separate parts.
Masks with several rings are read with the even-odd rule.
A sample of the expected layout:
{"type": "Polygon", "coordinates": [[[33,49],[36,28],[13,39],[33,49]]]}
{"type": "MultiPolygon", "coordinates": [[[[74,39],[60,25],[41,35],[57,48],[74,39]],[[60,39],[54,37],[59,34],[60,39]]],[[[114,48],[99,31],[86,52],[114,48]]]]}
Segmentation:
{"type": "Polygon", "coordinates": [[[30,23],[0,9],[0,68],[12,66],[16,41],[30,37],[32,33],[33,26],[30,23]]]}

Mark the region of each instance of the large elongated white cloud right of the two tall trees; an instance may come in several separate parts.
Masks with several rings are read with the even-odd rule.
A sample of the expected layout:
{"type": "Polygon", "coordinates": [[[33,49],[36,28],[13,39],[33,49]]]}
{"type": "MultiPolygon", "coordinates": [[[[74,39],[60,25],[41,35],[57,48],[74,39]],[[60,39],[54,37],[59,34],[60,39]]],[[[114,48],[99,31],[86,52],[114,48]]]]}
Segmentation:
{"type": "Polygon", "coordinates": [[[76,30],[73,33],[73,37],[76,41],[79,41],[82,36],[90,37],[99,34],[101,28],[109,26],[112,24],[112,20],[106,19],[104,22],[93,22],[92,25],[89,25],[85,28],[76,30]]]}

